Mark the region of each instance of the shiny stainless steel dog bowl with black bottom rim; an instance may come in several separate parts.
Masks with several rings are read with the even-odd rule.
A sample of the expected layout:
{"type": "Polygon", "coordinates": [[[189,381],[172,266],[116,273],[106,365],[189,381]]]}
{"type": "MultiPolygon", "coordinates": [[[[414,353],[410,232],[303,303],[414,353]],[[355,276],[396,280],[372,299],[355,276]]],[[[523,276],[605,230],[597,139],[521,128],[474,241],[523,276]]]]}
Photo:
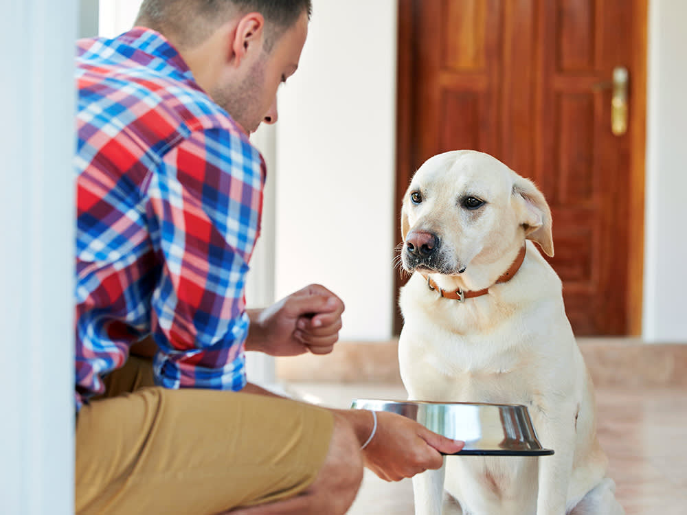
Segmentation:
{"type": "Polygon", "coordinates": [[[465,446],[457,455],[546,456],[554,453],[539,444],[530,413],[522,404],[357,399],[352,408],[398,413],[420,422],[434,433],[462,440],[465,446]]]}

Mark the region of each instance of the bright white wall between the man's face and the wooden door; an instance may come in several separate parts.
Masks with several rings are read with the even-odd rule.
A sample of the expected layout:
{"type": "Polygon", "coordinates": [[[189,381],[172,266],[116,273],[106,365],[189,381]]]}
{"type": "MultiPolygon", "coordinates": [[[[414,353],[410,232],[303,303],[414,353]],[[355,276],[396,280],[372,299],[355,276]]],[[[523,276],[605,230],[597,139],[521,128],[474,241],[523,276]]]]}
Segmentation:
{"type": "Polygon", "coordinates": [[[335,291],[343,339],[391,334],[395,56],[395,1],[314,0],[280,92],[275,290],[335,291]]]}

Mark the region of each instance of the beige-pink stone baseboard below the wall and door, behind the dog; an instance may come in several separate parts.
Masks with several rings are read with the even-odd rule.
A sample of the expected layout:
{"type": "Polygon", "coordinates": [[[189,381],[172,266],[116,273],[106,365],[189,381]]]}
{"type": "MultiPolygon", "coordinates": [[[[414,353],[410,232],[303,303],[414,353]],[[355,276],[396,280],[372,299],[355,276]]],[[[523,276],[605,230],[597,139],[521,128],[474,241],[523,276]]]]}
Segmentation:
{"type": "MultiPolygon", "coordinates": [[[[580,339],[596,387],[687,387],[687,345],[635,339],[580,339]]],[[[284,382],[400,385],[398,341],[340,342],[326,356],[276,360],[284,382]]]]}

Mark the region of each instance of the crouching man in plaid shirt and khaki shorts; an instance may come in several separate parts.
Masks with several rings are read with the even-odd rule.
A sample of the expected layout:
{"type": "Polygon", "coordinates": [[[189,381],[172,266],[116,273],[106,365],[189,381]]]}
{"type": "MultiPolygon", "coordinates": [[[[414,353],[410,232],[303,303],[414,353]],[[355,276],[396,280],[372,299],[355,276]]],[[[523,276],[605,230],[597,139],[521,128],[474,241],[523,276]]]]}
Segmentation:
{"type": "Polygon", "coordinates": [[[310,12],[144,0],[130,32],[79,42],[78,514],[343,514],[363,464],[398,480],[462,446],[245,378],[244,350],[326,354],[341,328],[323,286],[243,298],[265,180],[248,135],[277,121],[310,12]]]}

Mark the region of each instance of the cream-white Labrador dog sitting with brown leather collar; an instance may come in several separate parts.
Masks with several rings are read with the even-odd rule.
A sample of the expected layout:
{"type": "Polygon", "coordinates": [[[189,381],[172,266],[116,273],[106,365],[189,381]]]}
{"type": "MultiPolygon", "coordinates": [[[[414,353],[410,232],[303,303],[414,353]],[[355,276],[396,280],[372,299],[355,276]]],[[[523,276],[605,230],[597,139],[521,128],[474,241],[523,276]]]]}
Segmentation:
{"type": "Polygon", "coordinates": [[[451,456],[413,479],[416,515],[622,515],[594,387],[565,315],[551,211],[473,150],[414,174],[401,209],[401,378],[410,400],[524,404],[542,457],[451,456]],[[447,501],[442,499],[444,488],[447,501]],[[450,501],[453,498],[455,501],[450,501]]]}

